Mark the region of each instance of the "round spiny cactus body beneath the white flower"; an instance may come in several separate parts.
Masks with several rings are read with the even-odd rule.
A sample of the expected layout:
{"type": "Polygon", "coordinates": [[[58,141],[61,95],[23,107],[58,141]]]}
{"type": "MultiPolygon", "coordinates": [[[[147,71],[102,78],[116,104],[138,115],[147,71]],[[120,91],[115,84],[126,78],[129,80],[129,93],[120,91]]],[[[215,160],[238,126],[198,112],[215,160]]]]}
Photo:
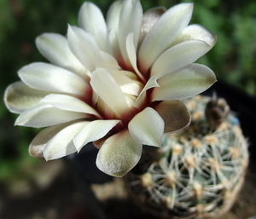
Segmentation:
{"type": "Polygon", "coordinates": [[[136,201],[157,218],[212,218],[233,205],[247,169],[247,141],[224,99],[184,101],[191,124],[145,147],[125,178],[136,201]]]}

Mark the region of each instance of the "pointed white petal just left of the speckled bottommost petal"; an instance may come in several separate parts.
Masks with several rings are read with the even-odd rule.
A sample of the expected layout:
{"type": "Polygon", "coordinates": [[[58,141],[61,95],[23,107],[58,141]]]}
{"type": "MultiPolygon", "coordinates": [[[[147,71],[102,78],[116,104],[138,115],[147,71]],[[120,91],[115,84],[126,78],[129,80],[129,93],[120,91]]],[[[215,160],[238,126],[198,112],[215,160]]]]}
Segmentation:
{"type": "Polygon", "coordinates": [[[73,142],[78,152],[90,141],[96,141],[107,135],[119,120],[95,120],[86,124],[74,137],[73,142]]]}

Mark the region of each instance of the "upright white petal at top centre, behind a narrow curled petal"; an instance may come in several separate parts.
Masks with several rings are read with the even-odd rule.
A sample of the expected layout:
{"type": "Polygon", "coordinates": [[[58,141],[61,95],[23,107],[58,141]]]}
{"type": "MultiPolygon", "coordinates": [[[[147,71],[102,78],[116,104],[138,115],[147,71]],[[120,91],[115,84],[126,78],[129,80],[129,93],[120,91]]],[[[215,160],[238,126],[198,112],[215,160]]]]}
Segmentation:
{"type": "Polygon", "coordinates": [[[125,0],[119,16],[119,48],[126,67],[131,67],[127,55],[126,38],[133,33],[133,45],[137,49],[138,37],[143,20],[143,8],[138,0],[125,0]]]}

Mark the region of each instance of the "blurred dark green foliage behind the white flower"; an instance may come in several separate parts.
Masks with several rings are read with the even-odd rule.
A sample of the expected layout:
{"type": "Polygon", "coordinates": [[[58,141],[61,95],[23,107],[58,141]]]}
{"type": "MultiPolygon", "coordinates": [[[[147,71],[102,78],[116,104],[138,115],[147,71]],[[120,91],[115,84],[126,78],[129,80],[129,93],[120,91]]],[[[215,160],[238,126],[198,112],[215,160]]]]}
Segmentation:
{"type": "MultiPolygon", "coordinates": [[[[97,0],[106,14],[113,1],[97,0]]],[[[177,0],[142,0],[143,9],[165,6],[177,0]]],[[[77,25],[83,0],[0,0],[0,93],[19,80],[17,71],[33,61],[46,61],[38,53],[35,38],[43,32],[67,32],[67,24],[77,25]]],[[[210,66],[217,77],[256,95],[256,1],[195,1],[191,23],[207,27],[218,36],[216,46],[200,63],[210,66]]],[[[38,130],[13,127],[14,115],[0,101],[0,182],[29,177],[28,167],[36,168],[37,158],[27,153],[38,130]],[[20,174],[22,172],[22,175],[20,174]]]]}

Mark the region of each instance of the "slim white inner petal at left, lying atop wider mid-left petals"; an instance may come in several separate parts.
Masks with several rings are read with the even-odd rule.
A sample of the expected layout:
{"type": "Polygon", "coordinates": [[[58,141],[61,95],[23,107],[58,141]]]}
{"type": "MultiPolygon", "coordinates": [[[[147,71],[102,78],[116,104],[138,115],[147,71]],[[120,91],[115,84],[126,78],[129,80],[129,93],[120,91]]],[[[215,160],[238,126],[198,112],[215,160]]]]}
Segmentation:
{"type": "Polygon", "coordinates": [[[96,115],[97,117],[100,116],[93,107],[70,95],[47,95],[41,102],[49,103],[61,110],[84,112],[96,115]]]}

